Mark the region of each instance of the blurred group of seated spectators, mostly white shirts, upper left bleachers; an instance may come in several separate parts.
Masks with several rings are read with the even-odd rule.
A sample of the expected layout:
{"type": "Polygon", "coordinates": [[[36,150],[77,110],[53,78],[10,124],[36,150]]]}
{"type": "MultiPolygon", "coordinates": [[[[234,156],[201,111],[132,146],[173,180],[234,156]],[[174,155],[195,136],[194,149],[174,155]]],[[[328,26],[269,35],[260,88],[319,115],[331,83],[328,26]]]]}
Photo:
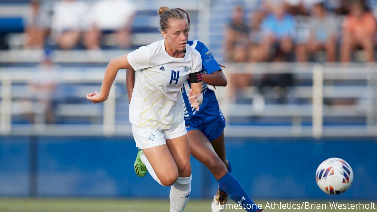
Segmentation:
{"type": "Polygon", "coordinates": [[[135,9],[129,0],[31,0],[25,48],[98,49],[103,34],[114,34],[116,46],[128,48],[135,9]]]}

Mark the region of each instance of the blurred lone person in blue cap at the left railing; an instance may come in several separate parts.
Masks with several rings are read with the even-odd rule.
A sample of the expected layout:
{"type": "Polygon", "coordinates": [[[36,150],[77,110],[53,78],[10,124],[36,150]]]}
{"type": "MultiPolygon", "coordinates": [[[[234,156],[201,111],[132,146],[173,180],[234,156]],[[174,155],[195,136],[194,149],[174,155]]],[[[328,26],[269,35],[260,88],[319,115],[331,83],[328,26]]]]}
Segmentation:
{"type": "Polygon", "coordinates": [[[55,122],[53,100],[57,87],[57,66],[49,56],[46,56],[36,69],[35,77],[28,85],[32,102],[29,111],[34,112],[28,114],[28,118],[31,123],[35,124],[53,124],[55,122]]]}

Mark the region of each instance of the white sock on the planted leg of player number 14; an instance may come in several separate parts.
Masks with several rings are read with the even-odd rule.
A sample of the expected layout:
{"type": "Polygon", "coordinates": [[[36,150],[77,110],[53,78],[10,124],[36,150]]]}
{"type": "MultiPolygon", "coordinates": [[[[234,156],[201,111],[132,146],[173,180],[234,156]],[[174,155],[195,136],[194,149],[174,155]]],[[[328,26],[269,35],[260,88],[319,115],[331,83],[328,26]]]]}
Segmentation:
{"type": "Polygon", "coordinates": [[[189,201],[191,191],[190,177],[178,177],[178,180],[170,187],[170,212],[181,212],[189,201]]]}

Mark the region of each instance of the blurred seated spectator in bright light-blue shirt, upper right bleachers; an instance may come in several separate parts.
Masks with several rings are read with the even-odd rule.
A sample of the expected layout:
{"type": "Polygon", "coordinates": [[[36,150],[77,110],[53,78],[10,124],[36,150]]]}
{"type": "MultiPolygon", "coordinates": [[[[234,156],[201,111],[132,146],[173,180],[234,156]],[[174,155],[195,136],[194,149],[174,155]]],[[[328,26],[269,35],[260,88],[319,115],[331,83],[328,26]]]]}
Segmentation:
{"type": "MultiPolygon", "coordinates": [[[[259,58],[257,61],[286,62],[293,50],[294,34],[296,33],[294,18],[287,13],[283,1],[269,0],[267,6],[271,13],[265,17],[262,23],[263,40],[258,48],[259,58]]],[[[259,94],[254,96],[254,103],[262,105],[263,96],[267,95],[271,88],[278,91],[279,103],[286,103],[286,96],[292,85],[292,74],[264,74],[258,81],[259,94]]],[[[257,106],[256,108],[262,107],[257,106]]]]}

